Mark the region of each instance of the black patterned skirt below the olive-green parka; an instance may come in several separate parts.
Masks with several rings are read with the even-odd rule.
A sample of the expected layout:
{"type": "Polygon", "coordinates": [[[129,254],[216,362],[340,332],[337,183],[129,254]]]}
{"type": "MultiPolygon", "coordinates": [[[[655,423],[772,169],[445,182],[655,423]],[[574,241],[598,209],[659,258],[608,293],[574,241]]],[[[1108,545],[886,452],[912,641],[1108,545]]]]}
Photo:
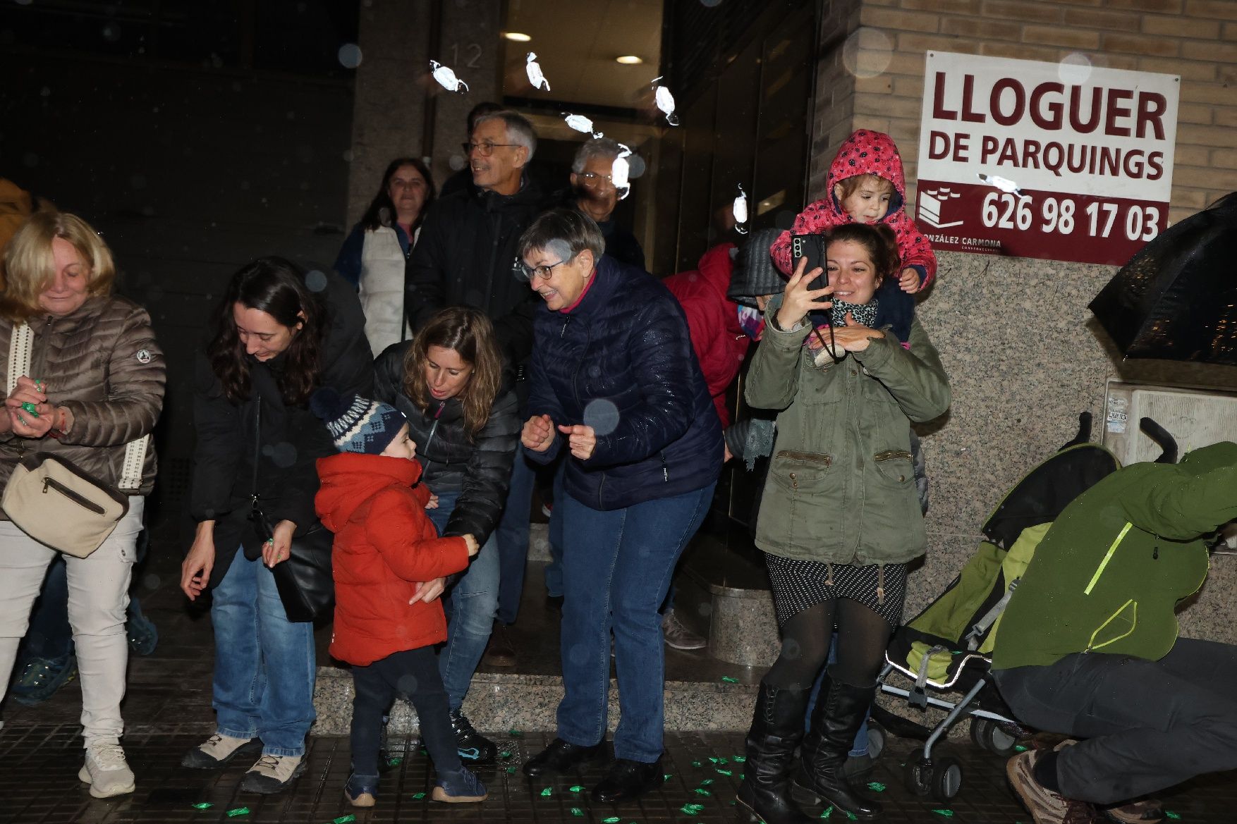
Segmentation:
{"type": "Polygon", "coordinates": [[[902,607],[907,600],[905,564],[823,564],[767,552],[764,563],[773,584],[778,626],[783,626],[797,612],[835,598],[858,601],[888,621],[889,626],[902,624],[902,607]]]}

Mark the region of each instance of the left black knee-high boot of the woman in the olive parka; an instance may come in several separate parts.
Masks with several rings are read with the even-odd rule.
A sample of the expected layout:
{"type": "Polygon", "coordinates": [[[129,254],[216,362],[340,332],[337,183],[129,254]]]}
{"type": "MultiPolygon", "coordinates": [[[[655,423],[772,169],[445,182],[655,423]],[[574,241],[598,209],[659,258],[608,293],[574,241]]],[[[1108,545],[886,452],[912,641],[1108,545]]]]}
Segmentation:
{"type": "Polygon", "coordinates": [[[810,689],[784,689],[761,682],[738,804],[764,824],[810,824],[790,800],[794,749],[803,739],[810,689]]]}

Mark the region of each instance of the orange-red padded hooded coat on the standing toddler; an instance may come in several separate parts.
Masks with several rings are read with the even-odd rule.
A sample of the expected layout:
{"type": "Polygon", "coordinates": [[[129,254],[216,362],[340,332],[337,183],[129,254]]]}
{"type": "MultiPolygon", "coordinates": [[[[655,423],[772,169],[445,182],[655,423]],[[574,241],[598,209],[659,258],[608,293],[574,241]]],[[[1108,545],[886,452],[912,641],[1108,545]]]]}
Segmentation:
{"type": "Polygon", "coordinates": [[[318,517],[335,533],[330,654],[367,666],[447,640],[438,599],[408,604],[419,582],[468,567],[464,538],[439,538],[426,515],[421,464],[340,453],[318,459],[318,517]]]}

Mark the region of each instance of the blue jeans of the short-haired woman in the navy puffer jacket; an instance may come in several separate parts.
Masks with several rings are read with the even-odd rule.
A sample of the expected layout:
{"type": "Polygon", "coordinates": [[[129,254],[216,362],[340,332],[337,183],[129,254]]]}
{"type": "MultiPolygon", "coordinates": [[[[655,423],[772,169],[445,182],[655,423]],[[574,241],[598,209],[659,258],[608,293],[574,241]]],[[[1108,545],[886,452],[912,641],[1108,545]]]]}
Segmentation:
{"type": "Polygon", "coordinates": [[[615,757],[644,763],[661,757],[666,661],[657,610],[674,564],[709,511],[713,489],[609,512],[570,494],[554,501],[567,536],[558,737],[580,746],[605,737],[612,630],[621,714],[615,757]]]}

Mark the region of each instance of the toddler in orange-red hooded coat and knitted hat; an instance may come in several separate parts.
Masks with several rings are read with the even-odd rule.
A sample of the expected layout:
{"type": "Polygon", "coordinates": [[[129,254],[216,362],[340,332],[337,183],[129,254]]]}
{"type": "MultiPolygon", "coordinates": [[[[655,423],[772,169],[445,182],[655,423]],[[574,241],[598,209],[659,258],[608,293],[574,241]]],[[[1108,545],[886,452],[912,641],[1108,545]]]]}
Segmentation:
{"type": "Polygon", "coordinates": [[[314,507],[335,533],[330,654],[353,664],[355,688],[353,775],[344,794],[354,807],[374,805],[382,716],[396,694],[406,694],[438,771],[433,799],[485,800],[485,787],[460,762],[434,656],[433,646],[447,640],[447,617],[438,599],[417,596],[419,582],[465,569],[476,538],[438,537],[426,516],[437,501],[418,483],[417,444],[402,412],[329,388],[315,392],[310,406],[343,453],[318,459],[314,507]]]}

